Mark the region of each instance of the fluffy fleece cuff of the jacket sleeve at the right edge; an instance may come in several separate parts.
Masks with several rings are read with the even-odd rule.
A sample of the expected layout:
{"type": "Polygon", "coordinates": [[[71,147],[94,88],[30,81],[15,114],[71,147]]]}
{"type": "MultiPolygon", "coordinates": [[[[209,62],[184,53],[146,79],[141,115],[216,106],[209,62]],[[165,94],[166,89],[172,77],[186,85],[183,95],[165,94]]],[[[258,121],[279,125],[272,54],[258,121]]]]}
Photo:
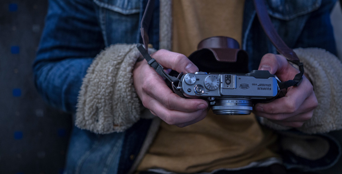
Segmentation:
{"type": "MultiPolygon", "coordinates": [[[[327,133],[342,128],[342,64],[333,54],[319,48],[294,49],[304,64],[305,73],[312,80],[314,92],[318,100],[318,107],[313,117],[304,125],[297,128],[307,134],[327,133]]],[[[261,118],[261,117],[260,117],[261,118]]],[[[284,127],[261,118],[261,124],[277,130],[284,127]]]]}

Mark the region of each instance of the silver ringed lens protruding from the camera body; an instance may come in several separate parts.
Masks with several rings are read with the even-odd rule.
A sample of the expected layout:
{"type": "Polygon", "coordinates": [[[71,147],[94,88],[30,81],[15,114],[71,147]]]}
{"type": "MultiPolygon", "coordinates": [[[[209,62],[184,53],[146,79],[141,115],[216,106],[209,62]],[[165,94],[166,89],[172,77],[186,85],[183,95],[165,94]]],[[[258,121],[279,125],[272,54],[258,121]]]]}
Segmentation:
{"type": "Polygon", "coordinates": [[[218,115],[249,115],[253,110],[252,100],[240,98],[216,99],[210,102],[211,110],[218,115]]]}

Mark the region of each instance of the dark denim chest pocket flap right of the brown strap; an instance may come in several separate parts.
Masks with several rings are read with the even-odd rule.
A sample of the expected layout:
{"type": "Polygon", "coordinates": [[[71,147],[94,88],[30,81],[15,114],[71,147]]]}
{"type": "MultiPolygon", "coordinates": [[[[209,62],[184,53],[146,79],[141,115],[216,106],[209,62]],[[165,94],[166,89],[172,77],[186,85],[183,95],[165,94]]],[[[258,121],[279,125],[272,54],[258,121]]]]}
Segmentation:
{"type": "Polygon", "coordinates": [[[280,20],[292,20],[295,17],[317,10],[322,0],[267,0],[268,13],[280,20]]]}

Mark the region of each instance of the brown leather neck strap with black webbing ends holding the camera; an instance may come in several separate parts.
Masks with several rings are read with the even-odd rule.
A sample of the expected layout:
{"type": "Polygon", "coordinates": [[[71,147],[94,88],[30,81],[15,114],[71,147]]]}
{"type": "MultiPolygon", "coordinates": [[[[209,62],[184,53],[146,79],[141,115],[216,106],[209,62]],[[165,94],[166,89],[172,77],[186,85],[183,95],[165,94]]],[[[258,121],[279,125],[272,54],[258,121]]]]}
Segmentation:
{"type": "MultiPolygon", "coordinates": [[[[275,30],[275,28],[271,22],[271,19],[268,16],[267,8],[266,8],[266,5],[264,3],[264,0],[253,0],[253,1],[254,1],[255,9],[257,11],[259,22],[260,22],[264,32],[266,33],[267,37],[271,40],[271,42],[273,43],[273,45],[276,47],[277,51],[280,54],[284,55],[284,57],[288,61],[298,65],[298,67],[299,67],[300,73],[296,74],[293,80],[288,80],[285,82],[279,82],[278,83],[279,88],[285,89],[285,88],[288,88],[291,86],[298,86],[303,79],[303,74],[304,74],[303,63],[300,62],[296,53],[292,49],[290,49],[286,45],[286,43],[278,35],[277,31],[275,30]]],[[[173,82],[179,82],[180,80],[176,77],[173,77],[173,76],[170,76],[169,74],[167,74],[164,71],[164,68],[158,62],[156,62],[155,59],[150,57],[150,55],[148,54],[148,51],[147,51],[147,49],[148,49],[147,46],[148,46],[148,41],[149,41],[149,39],[148,39],[148,28],[149,28],[149,25],[150,25],[150,22],[152,19],[153,8],[154,8],[154,0],[148,0],[144,15],[143,15],[142,20],[141,20],[141,29],[140,29],[145,48],[140,43],[137,44],[137,48],[141,52],[143,57],[146,59],[148,64],[150,66],[152,66],[160,76],[165,77],[170,82],[172,82],[173,88],[177,89],[177,87],[175,85],[173,85],[173,82]]],[[[181,73],[181,74],[183,74],[183,73],[181,73]]],[[[181,75],[179,75],[179,77],[180,76],[181,75]]],[[[178,90],[174,90],[174,91],[176,92],[178,90]]],[[[177,92],[177,93],[181,94],[181,92],[177,92]]],[[[180,95],[180,94],[178,94],[178,95],[180,95]]],[[[181,95],[181,96],[183,96],[183,95],[181,95]]]]}

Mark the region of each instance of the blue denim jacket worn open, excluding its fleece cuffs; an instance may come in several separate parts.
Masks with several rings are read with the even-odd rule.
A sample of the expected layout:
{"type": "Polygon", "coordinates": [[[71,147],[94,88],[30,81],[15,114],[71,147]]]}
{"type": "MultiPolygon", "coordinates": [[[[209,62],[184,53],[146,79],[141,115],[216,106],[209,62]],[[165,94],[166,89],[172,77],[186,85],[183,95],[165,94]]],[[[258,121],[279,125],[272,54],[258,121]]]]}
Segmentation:
{"type": "MultiPolygon", "coordinates": [[[[334,2],[267,0],[267,7],[280,37],[290,48],[318,47],[336,54],[329,18],[334,2]]],[[[115,43],[142,42],[140,21],[146,3],[147,0],[49,0],[33,65],[35,84],[42,97],[56,108],[75,113],[82,78],[94,57],[115,43]]],[[[246,0],[242,49],[249,54],[250,70],[258,69],[264,54],[276,53],[255,15],[252,1],[246,0]]],[[[159,49],[159,1],[148,34],[149,42],[159,49]]],[[[66,173],[127,173],[151,122],[141,119],[125,132],[107,135],[74,127],[66,173]]],[[[328,160],[317,168],[331,163],[333,160],[328,160]]]]}

